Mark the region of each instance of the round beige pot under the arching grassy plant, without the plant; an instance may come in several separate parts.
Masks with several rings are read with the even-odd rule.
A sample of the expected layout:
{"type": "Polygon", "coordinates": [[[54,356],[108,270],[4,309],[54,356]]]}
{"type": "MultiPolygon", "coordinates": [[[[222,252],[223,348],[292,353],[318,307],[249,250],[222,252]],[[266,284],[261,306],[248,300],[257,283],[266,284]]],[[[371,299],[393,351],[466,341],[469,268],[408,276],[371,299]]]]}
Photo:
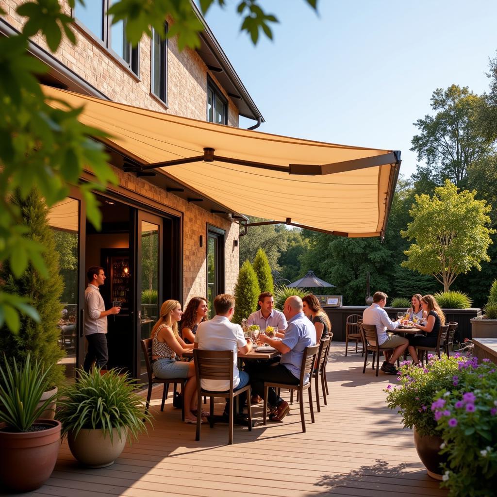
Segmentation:
{"type": "Polygon", "coordinates": [[[127,428],[121,429],[121,438],[117,428],[110,436],[103,436],[101,429],[81,429],[75,437],[73,432],[68,434],[69,448],[73,456],[84,466],[89,468],[105,468],[114,464],[126,445],[127,428]]]}

